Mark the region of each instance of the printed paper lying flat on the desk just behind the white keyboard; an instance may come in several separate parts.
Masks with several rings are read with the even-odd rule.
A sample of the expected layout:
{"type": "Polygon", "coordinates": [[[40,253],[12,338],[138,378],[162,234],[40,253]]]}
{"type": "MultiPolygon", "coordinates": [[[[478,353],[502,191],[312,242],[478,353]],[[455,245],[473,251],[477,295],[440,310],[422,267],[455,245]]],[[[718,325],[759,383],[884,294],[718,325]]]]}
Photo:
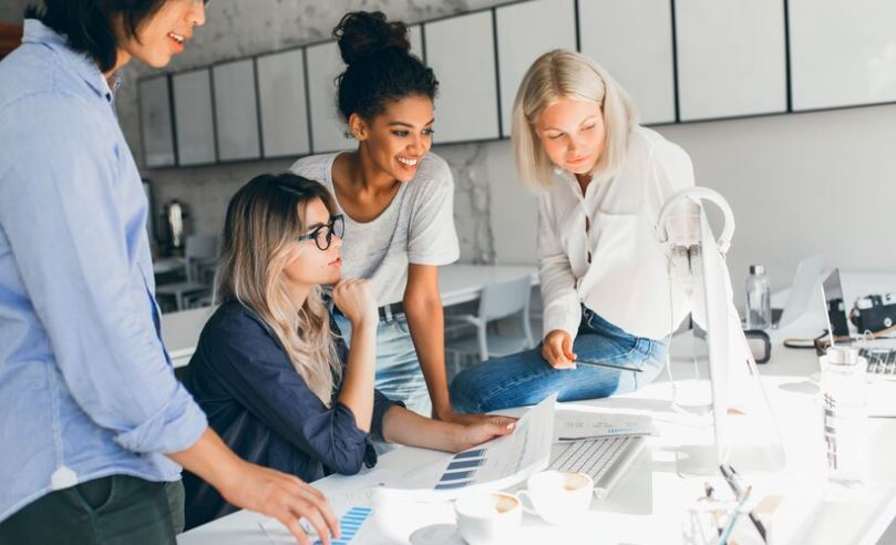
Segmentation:
{"type": "Polygon", "coordinates": [[[646,414],[615,414],[567,409],[558,409],[554,413],[556,441],[652,434],[653,419],[646,414]]]}

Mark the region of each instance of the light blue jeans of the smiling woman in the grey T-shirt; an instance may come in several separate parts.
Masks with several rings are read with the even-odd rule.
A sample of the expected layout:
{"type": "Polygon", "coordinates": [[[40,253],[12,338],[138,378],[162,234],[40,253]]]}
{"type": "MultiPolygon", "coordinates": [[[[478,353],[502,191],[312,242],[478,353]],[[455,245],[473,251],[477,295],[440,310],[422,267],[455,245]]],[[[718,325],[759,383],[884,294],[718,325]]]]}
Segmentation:
{"type": "MultiPolygon", "coordinates": [[[[351,347],[351,322],[339,312],[333,312],[336,323],[342,331],[346,343],[351,347]]],[[[377,377],[375,388],[393,401],[424,417],[432,412],[426,380],[420,369],[408,318],[396,315],[391,321],[380,320],[377,327],[377,377]]]]}

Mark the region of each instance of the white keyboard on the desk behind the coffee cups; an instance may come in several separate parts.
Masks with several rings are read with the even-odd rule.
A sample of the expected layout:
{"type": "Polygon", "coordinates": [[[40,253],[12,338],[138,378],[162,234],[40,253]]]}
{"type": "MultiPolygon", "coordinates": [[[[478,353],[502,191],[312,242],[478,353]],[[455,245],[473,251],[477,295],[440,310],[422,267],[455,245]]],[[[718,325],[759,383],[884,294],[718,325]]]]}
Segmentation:
{"type": "Polygon", "coordinates": [[[643,449],[642,436],[618,435],[556,443],[549,470],[586,473],[595,482],[595,493],[606,497],[643,449]]]}

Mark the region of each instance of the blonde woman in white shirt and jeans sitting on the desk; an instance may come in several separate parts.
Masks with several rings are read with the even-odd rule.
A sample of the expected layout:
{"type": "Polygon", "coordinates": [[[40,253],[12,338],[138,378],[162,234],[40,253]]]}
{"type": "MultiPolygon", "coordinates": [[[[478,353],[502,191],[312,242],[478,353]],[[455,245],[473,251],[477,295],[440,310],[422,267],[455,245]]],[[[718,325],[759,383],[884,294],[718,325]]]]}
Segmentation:
{"type": "Polygon", "coordinates": [[[666,198],[693,185],[690,158],[638,125],[604,69],[565,50],[542,55],[526,73],[513,146],[521,177],[538,192],[544,341],[460,373],[452,404],[484,412],[554,392],[571,401],[649,383],[688,309],[670,288],[653,225],[666,198]]]}

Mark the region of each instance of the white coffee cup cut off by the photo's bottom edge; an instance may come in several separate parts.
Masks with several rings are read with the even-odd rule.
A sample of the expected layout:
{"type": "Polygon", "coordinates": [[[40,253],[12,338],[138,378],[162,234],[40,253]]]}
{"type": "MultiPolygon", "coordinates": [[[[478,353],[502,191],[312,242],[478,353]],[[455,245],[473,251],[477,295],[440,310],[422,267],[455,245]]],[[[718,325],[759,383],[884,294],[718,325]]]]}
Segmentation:
{"type": "Polygon", "coordinates": [[[457,531],[470,545],[512,543],[523,520],[519,500],[503,492],[474,493],[454,502],[457,531]]]}

